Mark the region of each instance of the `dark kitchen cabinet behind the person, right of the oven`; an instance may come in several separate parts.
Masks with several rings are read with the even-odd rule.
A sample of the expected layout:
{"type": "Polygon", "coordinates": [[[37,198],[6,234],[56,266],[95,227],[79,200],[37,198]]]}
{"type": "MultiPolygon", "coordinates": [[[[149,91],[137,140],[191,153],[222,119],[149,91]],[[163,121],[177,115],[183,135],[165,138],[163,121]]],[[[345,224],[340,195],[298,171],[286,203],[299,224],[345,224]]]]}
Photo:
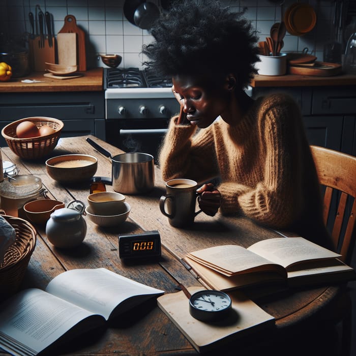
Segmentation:
{"type": "Polygon", "coordinates": [[[288,93],[298,102],[310,144],[356,156],[354,86],[257,87],[252,96],[271,92],[288,93]]]}

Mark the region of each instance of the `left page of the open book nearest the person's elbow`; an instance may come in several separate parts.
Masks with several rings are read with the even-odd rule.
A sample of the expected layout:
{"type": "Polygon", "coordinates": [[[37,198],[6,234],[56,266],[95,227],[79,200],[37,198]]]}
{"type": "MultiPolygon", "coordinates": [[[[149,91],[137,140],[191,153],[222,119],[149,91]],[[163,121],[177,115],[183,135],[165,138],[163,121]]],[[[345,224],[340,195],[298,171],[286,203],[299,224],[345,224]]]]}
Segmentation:
{"type": "MultiPolygon", "coordinates": [[[[214,246],[199,251],[190,252],[187,256],[226,276],[247,273],[260,267],[271,269],[275,264],[238,245],[214,246]]],[[[272,269],[275,269],[274,267],[272,269]]],[[[281,269],[280,267],[277,269],[281,269]]]]}

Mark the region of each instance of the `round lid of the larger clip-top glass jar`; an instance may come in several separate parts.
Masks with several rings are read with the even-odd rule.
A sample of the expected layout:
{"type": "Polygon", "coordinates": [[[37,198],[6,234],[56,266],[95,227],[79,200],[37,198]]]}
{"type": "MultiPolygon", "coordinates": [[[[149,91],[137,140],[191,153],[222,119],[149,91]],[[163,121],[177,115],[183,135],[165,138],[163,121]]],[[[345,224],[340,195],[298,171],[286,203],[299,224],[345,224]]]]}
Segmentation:
{"type": "Polygon", "coordinates": [[[17,175],[0,183],[0,194],[7,198],[21,198],[37,194],[42,188],[41,178],[34,175],[17,175]]]}

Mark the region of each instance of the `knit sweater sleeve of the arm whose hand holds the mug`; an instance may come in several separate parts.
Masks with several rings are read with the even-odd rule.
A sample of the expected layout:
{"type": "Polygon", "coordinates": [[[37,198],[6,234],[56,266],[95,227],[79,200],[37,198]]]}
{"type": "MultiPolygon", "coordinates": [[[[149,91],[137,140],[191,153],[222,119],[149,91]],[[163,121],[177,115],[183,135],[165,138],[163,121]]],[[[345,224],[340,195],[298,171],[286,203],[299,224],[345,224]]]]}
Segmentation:
{"type": "Polygon", "coordinates": [[[303,192],[299,177],[301,117],[296,104],[287,100],[262,105],[258,117],[264,162],[255,167],[261,180],[253,186],[224,182],[222,213],[239,212],[260,223],[285,227],[300,215],[303,192]]]}

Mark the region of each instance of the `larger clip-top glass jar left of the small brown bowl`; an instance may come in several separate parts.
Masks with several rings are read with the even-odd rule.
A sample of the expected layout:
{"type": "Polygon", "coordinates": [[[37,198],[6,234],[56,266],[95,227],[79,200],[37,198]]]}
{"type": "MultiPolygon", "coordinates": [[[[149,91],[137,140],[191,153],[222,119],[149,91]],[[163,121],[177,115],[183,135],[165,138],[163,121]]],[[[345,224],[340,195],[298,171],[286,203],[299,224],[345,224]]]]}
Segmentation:
{"type": "Polygon", "coordinates": [[[34,175],[8,177],[0,183],[1,209],[6,215],[24,218],[23,205],[44,196],[42,181],[34,175]]]}

